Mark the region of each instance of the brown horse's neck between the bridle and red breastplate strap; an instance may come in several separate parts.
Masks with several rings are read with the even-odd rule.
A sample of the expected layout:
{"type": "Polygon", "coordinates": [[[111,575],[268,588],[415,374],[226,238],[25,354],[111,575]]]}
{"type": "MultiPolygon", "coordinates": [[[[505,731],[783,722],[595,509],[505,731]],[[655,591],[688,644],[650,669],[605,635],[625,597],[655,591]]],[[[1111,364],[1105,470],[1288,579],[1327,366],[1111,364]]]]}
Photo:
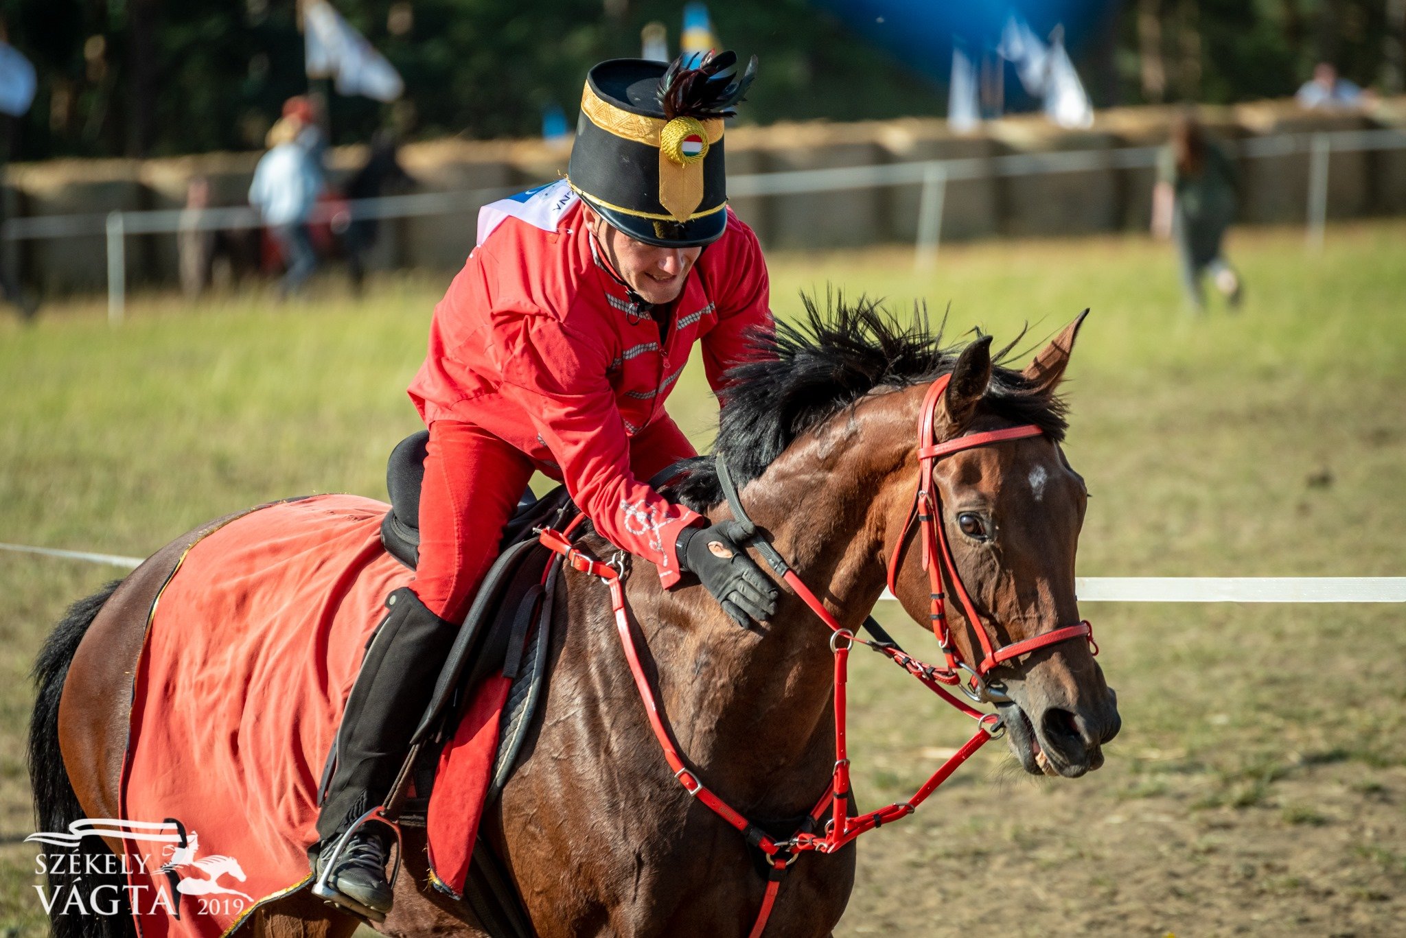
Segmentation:
{"type": "MultiPolygon", "coordinates": [[[[908,447],[891,418],[831,423],[787,449],[741,499],[801,581],[856,631],[883,592],[876,502],[908,447]]],[[[773,817],[807,810],[834,761],[830,629],[789,588],[772,623],[751,631],[711,600],[693,610],[695,640],[657,653],[681,745],[738,807],[773,817]]]]}

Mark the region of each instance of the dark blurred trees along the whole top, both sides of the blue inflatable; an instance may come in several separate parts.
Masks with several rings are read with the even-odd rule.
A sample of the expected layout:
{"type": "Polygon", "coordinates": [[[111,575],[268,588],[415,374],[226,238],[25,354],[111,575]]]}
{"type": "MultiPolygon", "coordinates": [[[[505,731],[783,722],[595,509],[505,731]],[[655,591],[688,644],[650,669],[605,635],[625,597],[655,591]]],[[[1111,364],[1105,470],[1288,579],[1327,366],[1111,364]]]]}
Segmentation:
{"type": "MultiPolygon", "coordinates": [[[[396,105],[333,96],[339,143],[387,124],[420,138],[536,135],[553,104],[575,113],[593,62],[640,55],[647,23],[668,24],[676,52],[683,8],[682,0],[333,1],[406,84],[396,105]]],[[[820,8],[844,1],[709,3],[720,41],[761,58],[745,120],[943,114],[946,89],[918,75],[922,63],[820,8]]],[[[1102,105],[1288,97],[1323,59],[1386,91],[1406,73],[1406,0],[1067,4],[1108,24],[1070,44],[1102,105]]],[[[17,159],[259,148],[283,101],[308,90],[297,0],[0,0],[0,14],[39,73],[34,108],[18,121],[17,159]]],[[[945,75],[950,38],[924,48],[942,58],[945,75]]]]}

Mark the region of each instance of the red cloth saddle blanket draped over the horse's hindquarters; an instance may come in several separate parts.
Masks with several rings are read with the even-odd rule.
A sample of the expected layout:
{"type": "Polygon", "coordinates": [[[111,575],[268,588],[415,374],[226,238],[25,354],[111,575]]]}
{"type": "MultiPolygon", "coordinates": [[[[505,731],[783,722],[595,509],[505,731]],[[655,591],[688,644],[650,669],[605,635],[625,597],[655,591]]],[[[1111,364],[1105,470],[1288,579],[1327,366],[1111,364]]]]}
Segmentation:
{"type": "MultiPolygon", "coordinates": [[[[385,512],[356,495],[260,508],[191,547],[156,600],[134,681],[121,814],[179,821],[188,841],[155,856],[142,855],[150,844],[125,841],[142,855],[125,866],[142,938],[219,938],[259,903],[311,883],[328,751],[385,596],[412,577],[381,547],[385,512]],[[159,894],[166,901],[152,901],[159,894]]],[[[430,863],[456,893],[503,696],[505,679],[479,690],[436,775],[430,863]]]]}

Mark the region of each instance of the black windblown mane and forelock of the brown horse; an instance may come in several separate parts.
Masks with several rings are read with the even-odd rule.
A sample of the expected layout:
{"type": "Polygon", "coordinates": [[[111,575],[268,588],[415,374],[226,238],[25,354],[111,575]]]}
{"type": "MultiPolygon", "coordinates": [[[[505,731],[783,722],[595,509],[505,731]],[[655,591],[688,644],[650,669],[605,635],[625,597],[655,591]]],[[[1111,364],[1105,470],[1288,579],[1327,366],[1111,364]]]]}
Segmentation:
{"type": "MultiPolygon", "coordinates": [[[[942,345],[942,325],[934,332],[927,312],[914,309],[900,322],[877,301],[827,297],[821,311],[801,295],[806,315],[799,323],[778,322],[776,335],[754,336],[763,360],[737,366],[718,420],[714,453],[727,458],[738,488],[766,471],[792,442],[824,423],[876,388],[927,384],[948,374],[965,346],[942,345]]],[[[984,405],[1015,423],[1033,423],[1053,440],[1064,439],[1064,402],[1039,391],[1005,361],[1021,336],[997,352],[984,405]]],[[[711,456],[686,464],[668,494],[693,510],[723,501],[711,456]]]]}

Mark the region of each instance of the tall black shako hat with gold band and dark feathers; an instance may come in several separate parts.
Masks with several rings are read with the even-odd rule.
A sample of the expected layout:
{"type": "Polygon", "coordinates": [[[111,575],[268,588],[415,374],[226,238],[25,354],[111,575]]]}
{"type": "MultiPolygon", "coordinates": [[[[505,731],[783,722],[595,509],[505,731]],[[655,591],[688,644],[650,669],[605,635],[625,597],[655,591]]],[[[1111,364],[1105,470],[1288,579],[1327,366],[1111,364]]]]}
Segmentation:
{"type": "Polygon", "coordinates": [[[567,181],[612,226],[662,248],[707,245],[727,228],[723,118],[756,75],[737,55],[610,59],[591,69],[567,181]]]}

